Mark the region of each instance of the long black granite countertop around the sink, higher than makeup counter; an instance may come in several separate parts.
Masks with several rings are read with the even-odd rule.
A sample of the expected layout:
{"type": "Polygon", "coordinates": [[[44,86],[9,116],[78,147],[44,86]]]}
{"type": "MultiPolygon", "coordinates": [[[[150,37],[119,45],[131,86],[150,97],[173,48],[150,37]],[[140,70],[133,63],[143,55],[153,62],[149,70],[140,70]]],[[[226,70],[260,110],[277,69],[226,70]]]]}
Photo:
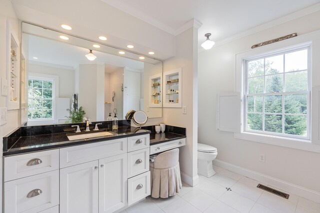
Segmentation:
{"type": "Polygon", "coordinates": [[[119,139],[119,138],[125,138],[125,137],[150,133],[149,130],[139,129],[131,126],[123,126],[123,127],[119,127],[117,132],[112,132],[113,134],[109,136],[101,136],[101,137],[79,139],[79,140],[72,140],[72,141],[69,141],[67,138],[67,136],[70,136],[70,135],[90,134],[90,133],[103,132],[103,131],[112,132],[112,129],[102,129],[99,131],[90,131],[90,132],[81,132],[81,133],[66,132],[66,133],[43,134],[43,135],[19,137],[11,147],[8,147],[7,151],[3,151],[3,156],[48,150],[48,149],[56,149],[56,148],[75,146],[80,144],[108,141],[113,139],[119,139]]]}

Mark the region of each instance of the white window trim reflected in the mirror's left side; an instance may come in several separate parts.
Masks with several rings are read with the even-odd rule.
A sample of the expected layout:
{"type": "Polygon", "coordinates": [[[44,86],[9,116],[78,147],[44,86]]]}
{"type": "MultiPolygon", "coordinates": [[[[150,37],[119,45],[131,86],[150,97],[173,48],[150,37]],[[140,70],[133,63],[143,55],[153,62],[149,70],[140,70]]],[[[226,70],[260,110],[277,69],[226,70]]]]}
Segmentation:
{"type": "Polygon", "coordinates": [[[52,103],[52,118],[51,119],[36,119],[36,120],[29,120],[28,119],[28,125],[41,125],[41,124],[48,124],[48,123],[57,123],[57,120],[55,119],[55,98],[59,97],[59,76],[57,75],[47,75],[47,74],[42,74],[42,73],[36,73],[36,72],[29,72],[28,77],[32,79],[48,79],[48,80],[53,80],[53,103],[52,103]]]}

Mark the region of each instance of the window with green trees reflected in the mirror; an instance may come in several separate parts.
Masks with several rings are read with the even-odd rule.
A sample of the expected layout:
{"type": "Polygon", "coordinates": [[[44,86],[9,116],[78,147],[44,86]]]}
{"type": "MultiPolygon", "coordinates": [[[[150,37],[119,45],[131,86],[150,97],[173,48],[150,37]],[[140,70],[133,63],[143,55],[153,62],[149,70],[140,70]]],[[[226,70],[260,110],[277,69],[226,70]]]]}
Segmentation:
{"type": "Polygon", "coordinates": [[[28,119],[53,119],[53,80],[28,79],[28,119]]]}

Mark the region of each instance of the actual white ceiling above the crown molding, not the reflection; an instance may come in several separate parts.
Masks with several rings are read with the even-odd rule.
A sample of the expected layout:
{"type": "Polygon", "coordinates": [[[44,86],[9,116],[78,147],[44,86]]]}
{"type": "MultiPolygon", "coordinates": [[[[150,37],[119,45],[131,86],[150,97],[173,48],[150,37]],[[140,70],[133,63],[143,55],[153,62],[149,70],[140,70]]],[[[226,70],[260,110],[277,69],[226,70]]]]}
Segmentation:
{"type": "Polygon", "coordinates": [[[221,41],[320,0],[102,0],[173,35],[191,19],[202,23],[199,45],[210,32],[221,41]]]}

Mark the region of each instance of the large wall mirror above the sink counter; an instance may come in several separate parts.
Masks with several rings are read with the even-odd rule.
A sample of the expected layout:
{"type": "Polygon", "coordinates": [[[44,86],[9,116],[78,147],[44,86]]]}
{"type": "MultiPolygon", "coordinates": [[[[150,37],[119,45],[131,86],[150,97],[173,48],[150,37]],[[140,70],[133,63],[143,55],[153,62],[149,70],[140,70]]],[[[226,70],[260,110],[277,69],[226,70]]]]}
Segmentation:
{"type": "Polygon", "coordinates": [[[162,61],[150,57],[22,22],[20,75],[23,126],[71,123],[80,107],[91,121],[162,117],[162,61]]]}

